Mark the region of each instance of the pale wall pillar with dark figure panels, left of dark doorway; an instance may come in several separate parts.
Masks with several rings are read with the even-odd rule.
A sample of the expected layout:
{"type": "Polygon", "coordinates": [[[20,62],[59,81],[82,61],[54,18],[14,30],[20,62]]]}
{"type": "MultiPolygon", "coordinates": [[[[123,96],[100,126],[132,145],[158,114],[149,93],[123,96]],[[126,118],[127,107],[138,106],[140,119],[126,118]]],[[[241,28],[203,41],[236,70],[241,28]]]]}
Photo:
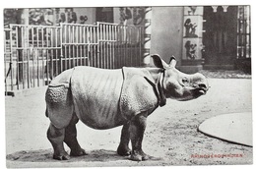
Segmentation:
{"type": "Polygon", "coordinates": [[[203,6],[184,7],[180,70],[186,73],[195,73],[203,69],[203,12],[203,6]]]}

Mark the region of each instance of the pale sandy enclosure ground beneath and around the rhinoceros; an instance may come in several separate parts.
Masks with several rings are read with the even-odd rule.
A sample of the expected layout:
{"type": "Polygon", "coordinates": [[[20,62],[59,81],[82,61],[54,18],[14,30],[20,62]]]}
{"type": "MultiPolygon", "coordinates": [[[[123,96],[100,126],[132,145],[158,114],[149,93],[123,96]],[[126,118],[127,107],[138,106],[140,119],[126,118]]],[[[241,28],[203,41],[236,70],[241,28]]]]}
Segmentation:
{"type": "Polygon", "coordinates": [[[167,100],[148,118],[143,148],[157,158],[143,162],[116,154],[120,127],[96,131],[81,122],[77,125],[78,140],[89,155],[69,161],[53,160],[51,144],[46,139],[49,121],[44,116],[45,87],[6,97],[7,167],[251,164],[252,147],[220,141],[197,131],[204,120],[213,116],[251,112],[251,80],[210,79],[209,84],[211,88],[205,96],[187,102],[167,100]]]}

